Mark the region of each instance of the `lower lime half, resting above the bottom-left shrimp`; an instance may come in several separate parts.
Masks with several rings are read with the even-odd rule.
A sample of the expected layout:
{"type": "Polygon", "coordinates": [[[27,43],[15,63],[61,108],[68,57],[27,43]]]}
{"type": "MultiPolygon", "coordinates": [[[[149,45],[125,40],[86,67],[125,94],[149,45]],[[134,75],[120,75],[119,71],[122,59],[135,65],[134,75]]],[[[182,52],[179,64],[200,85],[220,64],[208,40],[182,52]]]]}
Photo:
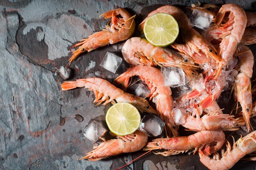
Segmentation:
{"type": "Polygon", "coordinates": [[[139,128],[140,114],[130,103],[117,103],[108,109],[106,122],[112,133],[130,135],[139,128]]]}

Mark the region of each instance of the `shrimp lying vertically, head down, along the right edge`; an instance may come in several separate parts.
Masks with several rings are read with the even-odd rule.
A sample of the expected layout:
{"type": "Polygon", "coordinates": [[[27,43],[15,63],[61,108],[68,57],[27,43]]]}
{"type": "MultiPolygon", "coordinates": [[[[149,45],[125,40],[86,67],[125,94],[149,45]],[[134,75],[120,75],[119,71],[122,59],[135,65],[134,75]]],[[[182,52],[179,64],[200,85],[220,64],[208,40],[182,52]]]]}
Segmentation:
{"type": "Polygon", "coordinates": [[[252,87],[251,78],[254,65],[254,56],[247,46],[241,46],[236,54],[240,59],[240,72],[235,80],[235,99],[240,102],[243,117],[248,131],[250,130],[250,115],[252,112],[252,87]]]}

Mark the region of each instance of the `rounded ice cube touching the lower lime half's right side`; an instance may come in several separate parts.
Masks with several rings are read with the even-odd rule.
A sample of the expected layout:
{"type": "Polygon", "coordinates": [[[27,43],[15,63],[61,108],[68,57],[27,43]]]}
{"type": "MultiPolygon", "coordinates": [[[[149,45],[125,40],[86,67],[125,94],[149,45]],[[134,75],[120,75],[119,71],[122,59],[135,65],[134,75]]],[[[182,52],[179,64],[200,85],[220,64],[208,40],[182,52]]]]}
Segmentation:
{"type": "Polygon", "coordinates": [[[158,136],[161,135],[164,124],[157,116],[148,114],[142,118],[139,129],[146,131],[148,136],[158,136]]]}

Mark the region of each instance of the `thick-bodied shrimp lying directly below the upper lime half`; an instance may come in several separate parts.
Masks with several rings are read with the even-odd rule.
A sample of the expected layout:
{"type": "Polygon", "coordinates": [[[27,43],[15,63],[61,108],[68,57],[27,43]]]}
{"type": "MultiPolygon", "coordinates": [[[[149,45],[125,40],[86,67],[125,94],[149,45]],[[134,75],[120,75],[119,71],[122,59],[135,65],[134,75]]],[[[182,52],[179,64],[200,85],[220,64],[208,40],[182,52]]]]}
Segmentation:
{"type": "Polygon", "coordinates": [[[123,48],[124,59],[132,65],[159,65],[166,67],[179,67],[190,75],[188,68],[196,68],[193,63],[188,63],[187,59],[171,49],[156,47],[141,37],[128,39],[123,48]]]}

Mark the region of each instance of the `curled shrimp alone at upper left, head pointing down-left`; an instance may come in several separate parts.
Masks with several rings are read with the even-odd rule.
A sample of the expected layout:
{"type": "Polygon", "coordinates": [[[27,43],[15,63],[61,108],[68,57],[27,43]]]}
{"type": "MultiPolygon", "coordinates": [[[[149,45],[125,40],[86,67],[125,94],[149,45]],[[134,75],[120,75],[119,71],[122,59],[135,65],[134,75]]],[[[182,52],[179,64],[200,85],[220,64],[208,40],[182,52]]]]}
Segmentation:
{"type": "Polygon", "coordinates": [[[108,22],[105,29],[90,35],[87,39],[82,39],[80,43],[74,45],[73,47],[80,47],[73,52],[69,59],[70,63],[85,51],[90,52],[96,48],[128,39],[135,30],[135,15],[131,16],[124,8],[108,11],[101,16],[104,16],[105,19],[111,18],[111,25],[108,22]]]}

